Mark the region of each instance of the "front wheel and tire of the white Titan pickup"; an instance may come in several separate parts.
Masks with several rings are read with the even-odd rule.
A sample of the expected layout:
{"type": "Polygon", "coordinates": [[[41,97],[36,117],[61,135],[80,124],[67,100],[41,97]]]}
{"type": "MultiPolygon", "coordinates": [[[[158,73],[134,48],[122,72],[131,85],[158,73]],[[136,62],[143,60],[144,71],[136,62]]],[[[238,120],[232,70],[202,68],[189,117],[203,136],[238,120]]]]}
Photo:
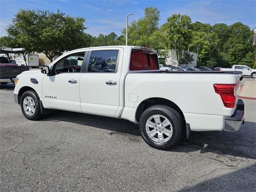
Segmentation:
{"type": "Polygon", "coordinates": [[[23,115],[28,120],[35,121],[42,117],[39,97],[34,91],[26,91],[22,94],[20,98],[20,107],[23,115]]]}

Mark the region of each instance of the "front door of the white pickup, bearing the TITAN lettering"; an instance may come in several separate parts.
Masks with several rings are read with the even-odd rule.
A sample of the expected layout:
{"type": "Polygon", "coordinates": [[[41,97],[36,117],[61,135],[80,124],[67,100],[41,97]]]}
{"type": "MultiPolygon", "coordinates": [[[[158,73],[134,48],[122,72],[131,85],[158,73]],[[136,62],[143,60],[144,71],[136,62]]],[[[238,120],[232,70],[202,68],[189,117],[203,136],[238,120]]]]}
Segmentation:
{"type": "Polygon", "coordinates": [[[81,112],[79,80],[85,52],[70,54],[54,64],[49,76],[44,76],[42,93],[46,108],[81,112]]]}

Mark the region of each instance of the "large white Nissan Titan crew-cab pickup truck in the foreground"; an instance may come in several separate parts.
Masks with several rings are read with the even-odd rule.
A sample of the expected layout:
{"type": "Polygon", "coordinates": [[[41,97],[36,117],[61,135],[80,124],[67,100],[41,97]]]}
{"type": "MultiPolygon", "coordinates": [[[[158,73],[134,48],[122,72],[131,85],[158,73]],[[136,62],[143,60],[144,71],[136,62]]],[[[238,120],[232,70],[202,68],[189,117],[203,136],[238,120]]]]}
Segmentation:
{"type": "Polygon", "coordinates": [[[161,72],[156,51],[139,46],[82,48],[18,75],[14,100],[29,120],[49,109],[130,120],[164,150],[191,131],[239,130],[240,80],[242,72],[161,72]]]}

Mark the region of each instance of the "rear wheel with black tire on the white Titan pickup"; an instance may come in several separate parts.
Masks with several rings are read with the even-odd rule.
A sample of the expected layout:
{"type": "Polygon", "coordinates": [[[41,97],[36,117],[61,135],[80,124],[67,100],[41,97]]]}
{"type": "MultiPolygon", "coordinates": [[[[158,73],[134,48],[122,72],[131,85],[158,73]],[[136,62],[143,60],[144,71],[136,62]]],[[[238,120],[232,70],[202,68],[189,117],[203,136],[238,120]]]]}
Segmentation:
{"type": "Polygon", "coordinates": [[[140,117],[140,133],[152,148],[167,150],[184,138],[184,121],[180,114],[164,105],[146,109],[140,117]]]}

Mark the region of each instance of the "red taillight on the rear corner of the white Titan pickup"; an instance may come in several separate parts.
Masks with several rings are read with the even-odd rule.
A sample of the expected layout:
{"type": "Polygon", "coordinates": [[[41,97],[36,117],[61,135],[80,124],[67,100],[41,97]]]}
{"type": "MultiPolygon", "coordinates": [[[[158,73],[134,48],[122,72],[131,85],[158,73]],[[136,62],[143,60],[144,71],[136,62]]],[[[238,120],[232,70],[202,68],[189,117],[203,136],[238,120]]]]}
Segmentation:
{"type": "Polygon", "coordinates": [[[214,84],[214,90],[220,95],[222,102],[227,108],[234,108],[236,104],[236,84],[214,84]]]}

